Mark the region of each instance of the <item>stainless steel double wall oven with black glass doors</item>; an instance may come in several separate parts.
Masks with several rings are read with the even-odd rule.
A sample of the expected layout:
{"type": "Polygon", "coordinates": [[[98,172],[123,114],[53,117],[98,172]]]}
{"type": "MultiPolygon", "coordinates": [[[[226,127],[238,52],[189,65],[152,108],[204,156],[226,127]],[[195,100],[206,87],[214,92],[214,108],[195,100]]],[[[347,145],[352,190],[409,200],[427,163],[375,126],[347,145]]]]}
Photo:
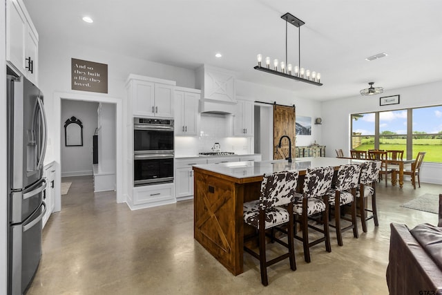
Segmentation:
{"type": "Polygon", "coordinates": [[[173,120],[133,120],[134,185],[173,182],[173,120]]]}

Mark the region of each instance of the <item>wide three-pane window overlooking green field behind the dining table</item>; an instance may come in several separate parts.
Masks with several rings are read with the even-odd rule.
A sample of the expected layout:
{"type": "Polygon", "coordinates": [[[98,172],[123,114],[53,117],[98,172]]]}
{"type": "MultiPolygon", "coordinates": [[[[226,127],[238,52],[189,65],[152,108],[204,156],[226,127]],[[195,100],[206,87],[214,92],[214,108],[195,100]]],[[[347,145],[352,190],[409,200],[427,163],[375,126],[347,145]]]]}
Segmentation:
{"type": "Polygon", "coordinates": [[[426,151],[425,162],[442,163],[442,106],[358,113],[351,118],[352,149],[403,150],[407,159],[426,151]]]}

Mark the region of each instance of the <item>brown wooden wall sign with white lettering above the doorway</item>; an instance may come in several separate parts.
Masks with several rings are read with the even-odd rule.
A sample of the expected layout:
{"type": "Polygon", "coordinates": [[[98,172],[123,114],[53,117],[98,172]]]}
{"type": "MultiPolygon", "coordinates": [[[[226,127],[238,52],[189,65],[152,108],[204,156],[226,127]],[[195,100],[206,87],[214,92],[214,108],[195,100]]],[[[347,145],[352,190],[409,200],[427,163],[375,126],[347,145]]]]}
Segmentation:
{"type": "Polygon", "coordinates": [[[108,93],[108,65],[72,59],[72,90],[108,93]]]}

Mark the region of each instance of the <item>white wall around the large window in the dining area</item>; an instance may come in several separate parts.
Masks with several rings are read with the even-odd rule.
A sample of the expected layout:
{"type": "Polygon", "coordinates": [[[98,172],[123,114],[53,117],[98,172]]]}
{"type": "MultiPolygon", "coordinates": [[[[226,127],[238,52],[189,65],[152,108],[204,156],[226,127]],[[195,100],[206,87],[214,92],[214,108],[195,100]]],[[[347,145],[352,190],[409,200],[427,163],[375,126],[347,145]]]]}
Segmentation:
{"type": "MultiPolygon", "coordinates": [[[[350,149],[350,114],[440,105],[442,104],[441,91],[442,82],[434,82],[387,90],[382,95],[368,97],[356,94],[354,97],[323,102],[323,124],[319,125],[323,129],[321,144],[327,145],[328,155],[335,155],[335,149],[343,149],[344,155],[348,156],[350,149]],[[379,106],[379,97],[390,95],[401,95],[400,104],[379,106]]],[[[421,180],[442,184],[442,164],[423,163],[421,180]]]]}

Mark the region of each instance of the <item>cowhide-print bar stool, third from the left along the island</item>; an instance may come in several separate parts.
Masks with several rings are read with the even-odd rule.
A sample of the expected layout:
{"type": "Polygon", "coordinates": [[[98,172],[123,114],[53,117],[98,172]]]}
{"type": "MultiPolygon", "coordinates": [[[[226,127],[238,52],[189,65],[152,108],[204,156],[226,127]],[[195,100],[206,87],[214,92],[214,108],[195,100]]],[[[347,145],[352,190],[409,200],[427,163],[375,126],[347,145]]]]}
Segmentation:
{"type": "Polygon", "coordinates": [[[361,175],[361,164],[340,165],[336,182],[329,191],[330,210],[334,209],[334,225],[329,223],[330,227],[336,229],[336,238],[338,245],[343,245],[343,231],[353,229],[353,236],[358,238],[358,222],[356,221],[356,188],[359,184],[359,176],[361,175]],[[351,204],[352,218],[348,219],[340,216],[340,207],[345,204],[351,204]],[[340,220],[349,220],[352,225],[341,227],[340,220]]]}

